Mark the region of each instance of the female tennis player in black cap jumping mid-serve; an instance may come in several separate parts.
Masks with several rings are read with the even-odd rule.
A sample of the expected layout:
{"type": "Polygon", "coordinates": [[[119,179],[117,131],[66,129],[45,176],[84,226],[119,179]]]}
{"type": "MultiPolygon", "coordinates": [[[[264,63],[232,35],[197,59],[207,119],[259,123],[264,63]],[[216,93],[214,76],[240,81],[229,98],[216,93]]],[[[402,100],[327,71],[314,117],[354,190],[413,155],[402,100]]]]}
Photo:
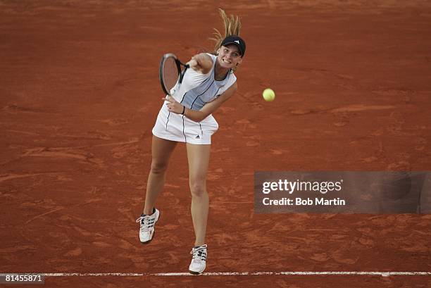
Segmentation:
{"type": "Polygon", "coordinates": [[[154,225],[160,212],[154,207],[163,189],[170,156],[178,142],[185,142],[189,164],[189,187],[192,193],[192,220],[196,240],[192,249],[189,272],[201,274],[206,267],[205,244],[208,218],[206,173],[211,149],[211,135],[218,129],[212,113],[237,90],[233,73],[242,63],[246,45],[239,37],[239,18],[227,17],[220,9],[225,27],[222,36],[215,30],[214,54],[197,54],[187,63],[180,88],[166,96],[153,128],[151,170],[146,186],[145,205],[140,223],[139,239],[146,244],[154,237],[154,225]]]}

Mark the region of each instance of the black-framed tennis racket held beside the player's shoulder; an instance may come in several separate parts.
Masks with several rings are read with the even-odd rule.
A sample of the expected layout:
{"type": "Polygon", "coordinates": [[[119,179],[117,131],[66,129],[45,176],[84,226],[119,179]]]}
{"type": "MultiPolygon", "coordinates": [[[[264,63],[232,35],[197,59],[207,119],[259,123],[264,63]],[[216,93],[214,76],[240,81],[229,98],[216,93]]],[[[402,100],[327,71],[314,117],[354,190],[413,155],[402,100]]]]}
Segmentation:
{"type": "Polygon", "coordinates": [[[160,82],[163,92],[172,96],[175,91],[180,89],[182,78],[189,65],[178,60],[177,56],[172,53],[163,55],[160,61],[160,82]],[[182,67],[184,67],[182,69],[182,67]]]}

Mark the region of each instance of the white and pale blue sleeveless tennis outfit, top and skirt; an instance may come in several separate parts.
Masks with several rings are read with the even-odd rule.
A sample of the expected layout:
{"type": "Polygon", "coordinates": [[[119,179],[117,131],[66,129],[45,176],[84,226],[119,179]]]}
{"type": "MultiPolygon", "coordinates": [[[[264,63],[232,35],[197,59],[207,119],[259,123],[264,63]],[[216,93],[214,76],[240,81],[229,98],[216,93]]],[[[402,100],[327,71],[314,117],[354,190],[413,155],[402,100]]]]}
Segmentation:
{"type": "MultiPolygon", "coordinates": [[[[206,103],[223,94],[237,80],[233,73],[227,73],[224,80],[215,80],[214,67],[217,56],[208,55],[213,59],[211,71],[202,74],[188,69],[180,89],[173,94],[175,101],[192,110],[201,110],[206,103]]],[[[167,103],[167,101],[163,103],[153,128],[156,137],[175,142],[211,144],[211,135],[218,130],[218,123],[213,115],[208,115],[200,122],[194,122],[185,115],[168,111],[167,103]]]]}

